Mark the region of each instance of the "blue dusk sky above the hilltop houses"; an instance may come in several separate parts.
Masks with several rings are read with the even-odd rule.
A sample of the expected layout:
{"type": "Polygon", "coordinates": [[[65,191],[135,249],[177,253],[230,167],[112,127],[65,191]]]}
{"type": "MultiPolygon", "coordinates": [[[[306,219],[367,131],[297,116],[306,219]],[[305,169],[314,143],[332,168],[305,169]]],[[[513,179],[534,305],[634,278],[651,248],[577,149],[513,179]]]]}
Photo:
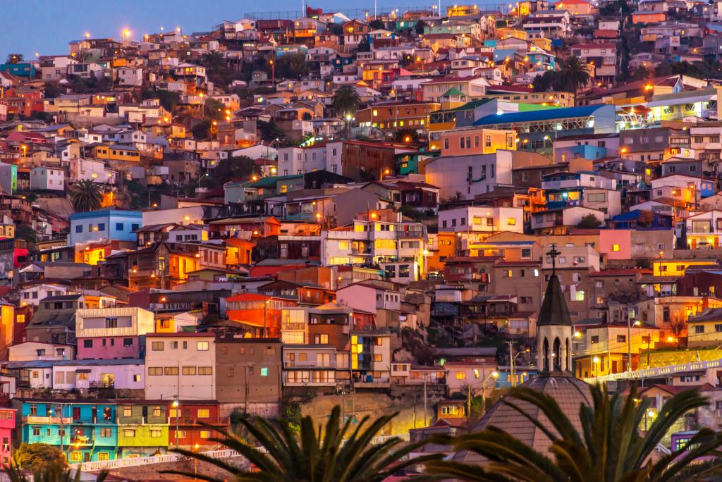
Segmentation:
{"type": "MultiPolygon", "coordinates": [[[[0,30],[0,56],[9,52],[25,56],[68,53],[68,42],[79,40],[84,32],[95,38],[120,38],[127,27],[133,38],[181,26],[185,32],[210,30],[223,19],[240,19],[245,12],[300,10],[300,0],[238,1],[215,0],[212,2],[175,0],[126,0],[126,1],[79,1],[79,0],[22,0],[8,2],[4,7],[0,30]]],[[[336,4],[342,4],[339,2],[336,4]]],[[[422,1],[405,1],[402,4],[424,4],[422,1]]],[[[429,5],[432,2],[428,2],[429,5]]],[[[434,2],[435,3],[435,2],[434,2]]],[[[311,1],[334,11],[330,2],[311,1]]],[[[378,1],[391,5],[389,1],[378,1]]],[[[350,4],[347,4],[350,6],[350,4]]],[[[355,8],[373,9],[373,0],[357,1],[355,8]]],[[[396,6],[399,6],[396,4],[396,6]]]]}

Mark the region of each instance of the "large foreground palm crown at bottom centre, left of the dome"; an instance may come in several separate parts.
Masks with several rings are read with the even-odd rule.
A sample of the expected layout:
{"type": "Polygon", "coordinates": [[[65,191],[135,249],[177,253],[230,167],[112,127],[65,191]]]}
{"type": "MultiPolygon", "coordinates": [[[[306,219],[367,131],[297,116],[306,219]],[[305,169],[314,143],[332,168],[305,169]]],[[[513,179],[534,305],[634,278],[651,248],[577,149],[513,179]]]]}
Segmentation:
{"type": "MultiPolygon", "coordinates": [[[[304,417],[300,430],[282,420],[280,427],[261,417],[240,419],[245,429],[261,445],[261,450],[251,447],[238,437],[221,431],[223,438],[211,439],[236,450],[256,466],[256,471],[246,472],[229,465],[222,460],[207,457],[188,450],[174,450],[196,460],[202,460],[227,470],[240,481],[334,481],[334,482],[375,482],[391,476],[396,471],[409,466],[438,458],[438,455],[425,455],[409,460],[410,452],[421,447],[422,443],[403,444],[401,439],[392,437],[385,442],[373,445],[371,441],[393,417],[381,416],[367,425],[365,416],[352,429],[351,420],[341,423],[341,409],[335,406],[325,429],[313,426],[310,416],[304,417]],[[345,440],[344,440],[345,439],[345,440]]],[[[167,473],[193,476],[189,473],[168,471],[167,473]]],[[[204,481],[221,481],[210,476],[196,476],[204,481]]]]}

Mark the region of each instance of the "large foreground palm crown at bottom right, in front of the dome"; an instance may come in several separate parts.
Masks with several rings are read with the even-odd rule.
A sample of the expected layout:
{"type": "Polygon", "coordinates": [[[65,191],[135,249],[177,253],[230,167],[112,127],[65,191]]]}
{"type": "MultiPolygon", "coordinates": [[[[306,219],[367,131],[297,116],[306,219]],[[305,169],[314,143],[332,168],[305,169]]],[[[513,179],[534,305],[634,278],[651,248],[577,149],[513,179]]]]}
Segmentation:
{"type": "Polygon", "coordinates": [[[722,459],[717,457],[722,434],[710,429],[700,429],[680,450],[653,456],[658,444],[685,413],[708,406],[708,400],[694,390],[667,400],[645,432],[639,429],[647,420],[651,400],[640,400],[636,387],[626,398],[618,393],[610,397],[606,385],[592,387],[593,406],[582,405],[579,409],[581,432],[549,395],[520,387],[508,396],[531,403],[549,420],[549,424],[544,424],[516,403],[504,400],[549,437],[552,445],[548,454],[536,452],[503,429],[490,426],[456,439],[437,440],[453,444],[457,451],[482,455],[488,461],[484,468],[434,460],[427,463],[427,470],[463,481],[662,482],[700,480],[699,477],[722,469],[722,459]],[[715,458],[697,462],[708,455],[715,458]]]}

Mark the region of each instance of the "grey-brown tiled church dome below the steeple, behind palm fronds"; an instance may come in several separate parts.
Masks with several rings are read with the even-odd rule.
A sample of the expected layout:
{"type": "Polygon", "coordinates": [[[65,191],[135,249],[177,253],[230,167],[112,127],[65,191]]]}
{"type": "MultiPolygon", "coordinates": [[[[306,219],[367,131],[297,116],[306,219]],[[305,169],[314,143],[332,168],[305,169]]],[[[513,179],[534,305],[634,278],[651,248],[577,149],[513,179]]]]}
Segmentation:
{"type": "MultiPolygon", "coordinates": [[[[579,407],[582,403],[587,406],[592,405],[589,390],[591,385],[573,377],[570,373],[554,372],[552,374],[542,374],[521,386],[539,390],[554,398],[565,415],[569,417],[574,428],[581,431],[581,422],[578,415],[579,407]]],[[[522,400],[512,400],[516,406],[534,419],[541,421],[541,424],[551,427],[549,419],[544,413],[541,413],[539,408],[522,400]]],[[[497,401],[471,431],[481,431],[487,426],[495,426],[497,429],[506,431],[538,452],[547,452],[552,444],[544,432],[532,424],[531,421],[521,416],[516,410],[503,403],[502,400],[497,401]]],[[[481,464],[484,462],[484,457],[474,452],[462,451],[456,453],[454,460],[456,462],[481,464]]]]}

